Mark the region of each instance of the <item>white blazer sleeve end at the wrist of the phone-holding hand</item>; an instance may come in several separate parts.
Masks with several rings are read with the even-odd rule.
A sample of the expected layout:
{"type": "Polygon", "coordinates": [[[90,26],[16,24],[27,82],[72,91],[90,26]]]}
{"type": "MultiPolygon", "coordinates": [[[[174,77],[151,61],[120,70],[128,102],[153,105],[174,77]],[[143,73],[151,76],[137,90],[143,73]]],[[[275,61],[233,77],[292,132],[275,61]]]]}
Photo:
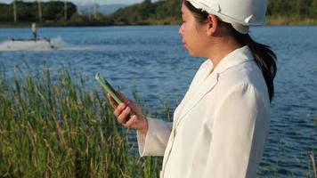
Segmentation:
{"type": "Polygon", "coordinates": [[[172,127],[171,122],[148,117],[147,134],[136,133],[140,156],[164,156],[172,127]]]}

